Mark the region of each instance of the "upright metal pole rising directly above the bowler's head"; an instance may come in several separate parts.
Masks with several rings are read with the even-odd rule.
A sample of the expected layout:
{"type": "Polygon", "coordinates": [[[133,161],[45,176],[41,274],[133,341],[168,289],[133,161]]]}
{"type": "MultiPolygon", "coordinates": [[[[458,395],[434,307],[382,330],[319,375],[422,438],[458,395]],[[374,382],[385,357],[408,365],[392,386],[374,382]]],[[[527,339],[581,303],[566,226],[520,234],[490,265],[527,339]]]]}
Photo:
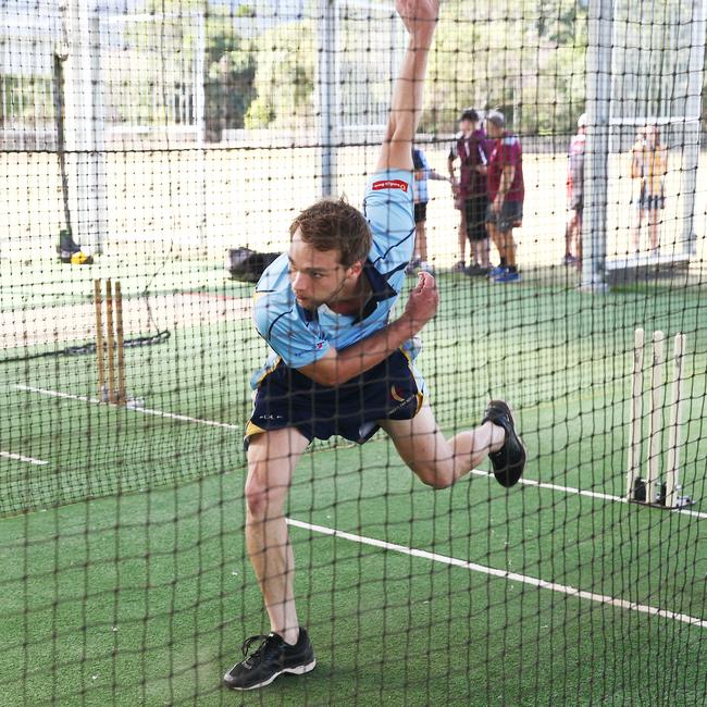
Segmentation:
{"type": "Polygon", "coordinates": [[[336,193],[336,0],[319,3],[319,145],[322,197],[336,193]]]}

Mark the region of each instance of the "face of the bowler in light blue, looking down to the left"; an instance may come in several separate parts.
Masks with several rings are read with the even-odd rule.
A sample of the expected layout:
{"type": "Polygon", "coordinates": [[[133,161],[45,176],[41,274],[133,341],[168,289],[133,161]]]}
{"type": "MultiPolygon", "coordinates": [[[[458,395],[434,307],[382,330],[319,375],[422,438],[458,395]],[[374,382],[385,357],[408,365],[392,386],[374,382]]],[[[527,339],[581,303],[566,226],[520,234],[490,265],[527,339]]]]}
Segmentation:
{"type": "Polygon", "coordinates": [[[297,303],[305,309],[317,309],[323,303],[336,302],[347,283],[361,272],[361,263],[345,268],[338,250],[317,250],[295,232],[289,244],[289,282],[297,303]]]}

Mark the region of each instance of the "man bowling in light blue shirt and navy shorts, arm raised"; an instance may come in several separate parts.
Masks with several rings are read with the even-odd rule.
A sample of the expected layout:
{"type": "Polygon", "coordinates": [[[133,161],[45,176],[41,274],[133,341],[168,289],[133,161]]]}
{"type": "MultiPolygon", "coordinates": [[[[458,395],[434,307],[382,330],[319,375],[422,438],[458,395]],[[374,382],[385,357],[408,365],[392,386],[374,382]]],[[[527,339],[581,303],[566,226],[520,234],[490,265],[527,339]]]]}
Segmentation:
{"type": "Polygon", "coordinates": [[[235,690],[262,687],[315,665],[297,617],[284,516],[293,472],[314,437],[338,434],[363,443],[382,427],[402,460],[434,488],[454,484],[486,456],[505,486],[518,481],[525,464],[504,401],[489,404],[480,427],[449,441],[437,427],[411,344],[437,309],[430,273],[420,273],[405,312],[389,320],[414,246],[411,145],[438,0],[396,5],[409,45],[363,213],[328,199],[302,211],[290,227],[289,251],[256,288],[256,327],[273,352],[253,376],[256,401],[246,429],[246,542],[271,633],[244,643],[246,658],[224,675],[235,690]]]}

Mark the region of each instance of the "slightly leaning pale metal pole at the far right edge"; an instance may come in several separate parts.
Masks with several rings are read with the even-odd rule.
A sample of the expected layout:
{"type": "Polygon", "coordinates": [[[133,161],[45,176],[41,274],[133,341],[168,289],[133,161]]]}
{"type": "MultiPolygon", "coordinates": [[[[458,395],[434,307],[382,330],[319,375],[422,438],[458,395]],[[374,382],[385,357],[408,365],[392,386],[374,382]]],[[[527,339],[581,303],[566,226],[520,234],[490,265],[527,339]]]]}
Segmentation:
{"type": "Polygon", "coordinates": [[[697,189],[697,164],[702,114],[702,87],[705,72],[705,33],[707,32],[707,3],[693,0],[692,37],[687,63],[687,96],[685,124],[682,126],[682,247],[687,256],[695,255],[695,191],[697,189]]]}

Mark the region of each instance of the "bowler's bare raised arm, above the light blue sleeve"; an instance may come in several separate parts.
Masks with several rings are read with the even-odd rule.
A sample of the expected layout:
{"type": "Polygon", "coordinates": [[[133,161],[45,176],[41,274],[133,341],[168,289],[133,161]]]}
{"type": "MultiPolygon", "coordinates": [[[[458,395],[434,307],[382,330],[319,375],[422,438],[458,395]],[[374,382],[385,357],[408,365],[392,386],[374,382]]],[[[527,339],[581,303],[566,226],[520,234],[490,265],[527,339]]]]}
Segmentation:
{"type": "Polygon", "coordinates": [[[381,146],[376,172],[412,170],[412,138],[422,112],[422,91],[427,54],[434,36],[439,0],[396,0],[408,30],[408,47],[393,87],[388,126],[381,146]]]}

